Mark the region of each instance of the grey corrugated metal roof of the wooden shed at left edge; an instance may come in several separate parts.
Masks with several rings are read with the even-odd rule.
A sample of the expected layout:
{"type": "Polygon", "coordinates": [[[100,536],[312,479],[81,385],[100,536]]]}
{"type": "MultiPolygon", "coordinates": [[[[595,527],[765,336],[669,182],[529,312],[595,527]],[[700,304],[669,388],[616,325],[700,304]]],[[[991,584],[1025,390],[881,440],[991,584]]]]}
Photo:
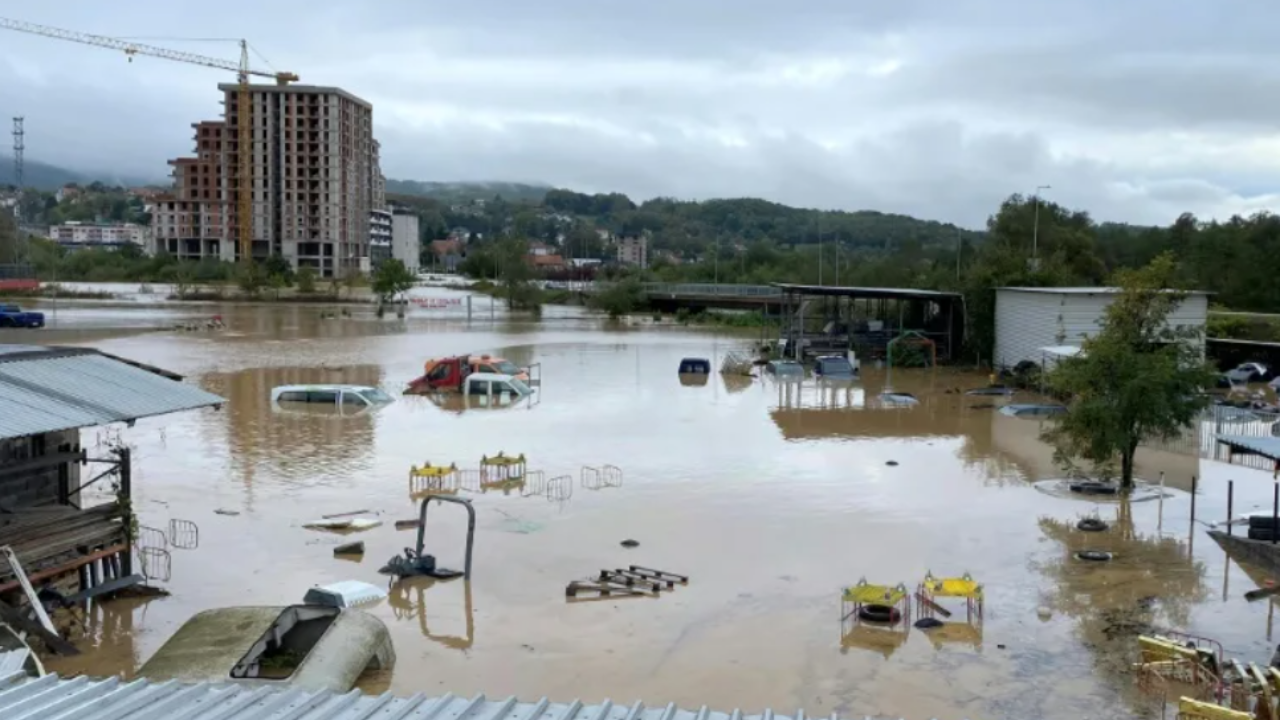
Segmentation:
{"type": "MultiPolygon", "coordinates": [[[[0,438],[88,428],[225,402],[84,348],[0,352],[0,438]]],[[[23,346],[18,346],[23,347],[23,346]]]]}

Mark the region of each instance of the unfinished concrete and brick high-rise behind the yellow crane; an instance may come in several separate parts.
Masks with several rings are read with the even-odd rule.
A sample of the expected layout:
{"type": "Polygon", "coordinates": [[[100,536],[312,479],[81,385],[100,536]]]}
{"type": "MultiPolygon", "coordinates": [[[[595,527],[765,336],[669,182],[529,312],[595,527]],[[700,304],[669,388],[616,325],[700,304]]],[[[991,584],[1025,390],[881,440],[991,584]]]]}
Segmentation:
{"type": "MultiPolygon", "coordinates": [[[[239,86],[219,85],[221,122],[196,123],[196,156],[152,215],[156,251],[239,260],[239,86]]],[[[280,255],[320,277],[369,272],[370,217],[385,205],[374,109],[335,87],[250,86],[256,260],[280,255]]]]}

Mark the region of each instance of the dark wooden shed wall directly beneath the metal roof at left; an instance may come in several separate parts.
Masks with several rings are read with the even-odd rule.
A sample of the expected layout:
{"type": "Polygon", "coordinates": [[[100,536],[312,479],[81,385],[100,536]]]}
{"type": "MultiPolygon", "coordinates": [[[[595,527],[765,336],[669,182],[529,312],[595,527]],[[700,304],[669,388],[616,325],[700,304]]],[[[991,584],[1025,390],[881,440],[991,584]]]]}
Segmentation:
{"type": "MultiPolygon", "coordinates": [[[[79,452],[79,430],[0,439],[0,469],[23,466],[41,457],[79,452]]],[[[56,503],[64,484],[67,492],[73,492],[79,487],[79,482],[81,466],[76,462],[0,473],[0,505],[17,510],[56,503]]],[[[79,496],[72,497],[70,505],[78,507],[79,496]]]]}

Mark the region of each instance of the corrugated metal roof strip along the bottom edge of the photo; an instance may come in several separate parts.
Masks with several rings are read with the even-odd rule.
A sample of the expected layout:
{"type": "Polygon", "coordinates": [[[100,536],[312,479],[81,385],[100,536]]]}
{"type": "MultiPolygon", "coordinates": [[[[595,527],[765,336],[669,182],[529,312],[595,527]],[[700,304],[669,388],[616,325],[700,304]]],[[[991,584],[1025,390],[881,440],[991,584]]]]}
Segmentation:
{"type": "MultiPolygon", "coordinates": [[[[422,693],[398,697],[360,691],[335,693],[225,683],[124,682],[119,678],[63,679],[58,675],[0,678],[0,717],[5,720],[791,720],[765,710],[759,715],[714,712],[705,706],[585,705],[517,702],[422,693]]],[[[796,711],[795,720],[805,720],[796,711]]],[[[831,716],[837,720],[836,715],[831,716]]],[[[868,719],[870,720],[870,719],[868,719]]]]}

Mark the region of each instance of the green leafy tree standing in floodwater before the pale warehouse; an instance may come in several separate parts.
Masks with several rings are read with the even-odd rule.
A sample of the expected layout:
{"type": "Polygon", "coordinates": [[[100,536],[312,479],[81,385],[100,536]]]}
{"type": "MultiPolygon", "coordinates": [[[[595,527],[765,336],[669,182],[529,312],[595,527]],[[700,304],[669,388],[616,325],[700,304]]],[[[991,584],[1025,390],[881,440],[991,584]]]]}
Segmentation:
{"type": "Polygon", "coordinates": [[[1138,446],[1194,425],[1213,372],[1202,356],[1201,331],[1167,322],[1187,297],[1174,290],[1176,275],[1172,254],[1116,273],[1121,290],[1102,328],[1083,342],[1080,356],[1047,374],[1048,386],[1068,397],[1068,413],[1044,433],[1061,464],[1078,457],[1110,474],[1119,460],[1120,486],[1130,489],[1138,446]]]}

